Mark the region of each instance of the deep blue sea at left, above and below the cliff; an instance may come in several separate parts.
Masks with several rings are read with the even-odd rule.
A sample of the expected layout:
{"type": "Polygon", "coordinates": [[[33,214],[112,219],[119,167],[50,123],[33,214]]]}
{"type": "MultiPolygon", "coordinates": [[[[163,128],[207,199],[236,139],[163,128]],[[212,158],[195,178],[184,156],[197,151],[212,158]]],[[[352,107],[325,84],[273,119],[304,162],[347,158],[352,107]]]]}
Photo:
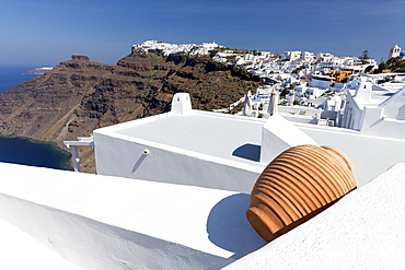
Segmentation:
{"type": "MultiPolygon", "coordinates": [[[[23,74],[38,67],[1,67],[0,93],[37,75],[23,74]]],[[[1,96],[0,96],[1,98],[1,96]]],[[[33,141],[26,138],[7,138],[0,134],[0,162],[37,167],[70,169],[70,156],[51,143],[33,141]]]]}

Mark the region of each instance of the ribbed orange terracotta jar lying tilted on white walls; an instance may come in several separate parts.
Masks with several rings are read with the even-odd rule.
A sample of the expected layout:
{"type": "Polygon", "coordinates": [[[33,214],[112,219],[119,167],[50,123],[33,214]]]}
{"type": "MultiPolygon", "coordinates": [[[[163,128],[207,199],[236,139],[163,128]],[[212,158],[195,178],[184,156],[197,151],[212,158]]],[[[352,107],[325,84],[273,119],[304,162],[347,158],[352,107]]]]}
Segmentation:
{"type": "Polygon", "coordinates": [[[263,171],[246,216],[267,242],[314,216],[356,188],[350,160],[332,146],[286,150],[263,171]]]}

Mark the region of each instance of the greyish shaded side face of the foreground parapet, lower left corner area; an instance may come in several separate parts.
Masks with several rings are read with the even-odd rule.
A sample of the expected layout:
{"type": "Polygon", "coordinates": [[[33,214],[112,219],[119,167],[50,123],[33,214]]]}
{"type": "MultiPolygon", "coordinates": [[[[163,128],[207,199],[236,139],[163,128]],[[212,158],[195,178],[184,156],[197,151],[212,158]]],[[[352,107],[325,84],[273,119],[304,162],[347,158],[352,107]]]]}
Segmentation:
{"type": "Polygon", "coordinates": [[[0,193],[0,216],[91,270],[206,269],[227,259],[0,193]],[[186,258],[181,260],[178,258],[186,258]],[[159,258],[159,259],[158,259],[159,258]]]}

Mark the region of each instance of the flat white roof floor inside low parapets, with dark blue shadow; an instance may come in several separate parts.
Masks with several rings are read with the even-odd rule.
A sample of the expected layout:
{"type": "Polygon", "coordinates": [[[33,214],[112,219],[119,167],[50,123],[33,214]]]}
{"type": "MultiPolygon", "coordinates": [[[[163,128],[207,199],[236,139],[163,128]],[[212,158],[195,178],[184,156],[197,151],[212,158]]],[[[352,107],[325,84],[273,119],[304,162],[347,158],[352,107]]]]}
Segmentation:
{"type": "Polygon", "coordinates": [[[141,125],[123,126],[116,132],[263,168],[259,164],[264,119],[198,111],[167,115],[141,125]]]}

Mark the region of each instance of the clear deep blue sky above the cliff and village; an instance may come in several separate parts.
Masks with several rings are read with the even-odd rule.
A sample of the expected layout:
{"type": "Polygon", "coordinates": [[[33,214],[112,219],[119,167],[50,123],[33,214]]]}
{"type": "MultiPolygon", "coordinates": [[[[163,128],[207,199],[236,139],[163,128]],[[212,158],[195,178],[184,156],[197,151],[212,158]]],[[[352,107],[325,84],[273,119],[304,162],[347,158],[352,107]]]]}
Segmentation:
{"type": "Polygon", "coordinates": [[[0,66],[115,64],[148,39],[380,61],[404,27],[404,0],[0,0],[0,66]]]}

